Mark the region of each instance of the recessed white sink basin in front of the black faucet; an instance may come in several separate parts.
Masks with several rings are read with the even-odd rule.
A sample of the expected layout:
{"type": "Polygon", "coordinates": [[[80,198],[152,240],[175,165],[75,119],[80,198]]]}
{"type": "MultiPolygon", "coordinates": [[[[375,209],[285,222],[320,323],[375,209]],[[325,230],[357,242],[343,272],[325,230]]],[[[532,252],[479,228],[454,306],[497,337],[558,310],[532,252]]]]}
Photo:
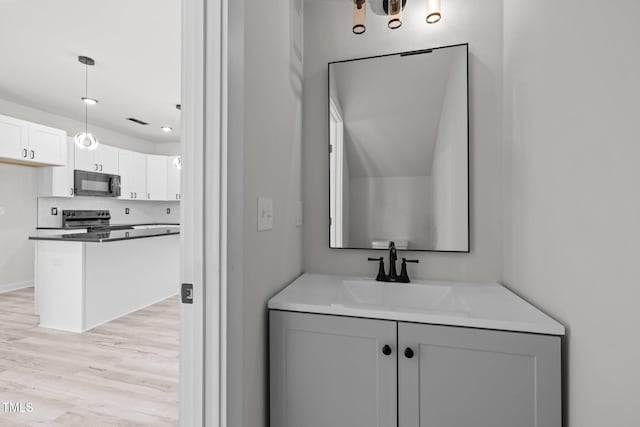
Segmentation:
{"type": "Polygon", "coordinates": [[[469,307],[451,286],[344,280],[339,304],[363,309],[464,314],[469,307]]]}

